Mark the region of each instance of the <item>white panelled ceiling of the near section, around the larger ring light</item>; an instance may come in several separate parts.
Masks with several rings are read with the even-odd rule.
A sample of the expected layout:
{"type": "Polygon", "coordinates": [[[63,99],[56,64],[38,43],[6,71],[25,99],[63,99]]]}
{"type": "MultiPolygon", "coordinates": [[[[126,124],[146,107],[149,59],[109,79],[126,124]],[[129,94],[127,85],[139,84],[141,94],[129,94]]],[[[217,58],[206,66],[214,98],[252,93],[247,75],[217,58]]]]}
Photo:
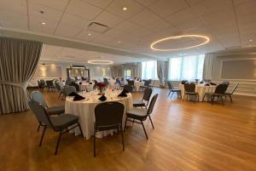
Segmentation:
{"type": "MultiPolygon", "coordinates": [[[[166,58],[255,47],[255,9],[255,0],[1,0],[0,23],[7,29],[166,58]],[[92,21],[110,29],[89,31],[92,21]],[[181,34],[204,35],[210,42],[172,52],[150,49],[160,38],[181,34]]],[[[177,41],[175,47],[184,42],[177,41]]]]}

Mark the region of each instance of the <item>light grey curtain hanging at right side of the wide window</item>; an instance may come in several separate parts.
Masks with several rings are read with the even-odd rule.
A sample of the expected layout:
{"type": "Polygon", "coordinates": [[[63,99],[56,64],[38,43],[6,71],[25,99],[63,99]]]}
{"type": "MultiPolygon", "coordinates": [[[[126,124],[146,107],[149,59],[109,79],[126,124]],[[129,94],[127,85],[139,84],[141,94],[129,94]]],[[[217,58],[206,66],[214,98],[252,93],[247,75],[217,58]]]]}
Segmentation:
{"type": "Polygon", "coordinates": [[[212,65],[213,65],[214,54],[206,54],[203,66],[203,79],[212,79],[212,65]]]}

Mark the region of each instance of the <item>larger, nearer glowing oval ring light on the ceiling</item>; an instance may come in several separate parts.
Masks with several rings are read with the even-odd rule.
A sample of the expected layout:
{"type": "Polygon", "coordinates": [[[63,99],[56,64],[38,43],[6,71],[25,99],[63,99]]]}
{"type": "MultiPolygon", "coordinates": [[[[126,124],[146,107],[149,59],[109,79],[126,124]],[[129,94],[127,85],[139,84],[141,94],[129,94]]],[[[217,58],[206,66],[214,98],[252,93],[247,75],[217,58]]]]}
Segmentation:
{"type": "Polygon", "coordinates": [[[207,44],[210,41],[209,37],[206,36],[201,36],[201,35],[181,35],[181,36],[175,36],[175,37],[166,37],[166,38],[162,38],[158,41],[155,41],[154,43],[151,43],[150,48],[153,50],[158,50],[158,51],[175,51],[175,50],[183,50],[183,49],[188,49],[188,48],[195,48],[198,46],[202,46],[204,44],[207,44]],[[203,43],[199,43],[199,44],[195,44],[193,46],[189,46],[189,47],[185,47],[185,48],[155,48],[155,45],[158,43],[164,43],[167,40],[178,40],[184,37],[189,37],[189,38],[202,38],[204,39],[203,43]]]}

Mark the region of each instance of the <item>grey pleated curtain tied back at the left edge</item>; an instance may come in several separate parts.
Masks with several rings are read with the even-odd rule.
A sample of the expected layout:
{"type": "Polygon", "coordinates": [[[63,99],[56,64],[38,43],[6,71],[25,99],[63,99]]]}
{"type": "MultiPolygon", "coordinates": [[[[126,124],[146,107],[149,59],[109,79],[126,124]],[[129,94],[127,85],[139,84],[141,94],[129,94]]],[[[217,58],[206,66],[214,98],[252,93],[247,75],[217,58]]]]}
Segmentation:
{"type": "Polygon", "coordinates": [[[0,37],[0,114],[26,111],[26,85],[37,69],[43,43],[0,37]]]}

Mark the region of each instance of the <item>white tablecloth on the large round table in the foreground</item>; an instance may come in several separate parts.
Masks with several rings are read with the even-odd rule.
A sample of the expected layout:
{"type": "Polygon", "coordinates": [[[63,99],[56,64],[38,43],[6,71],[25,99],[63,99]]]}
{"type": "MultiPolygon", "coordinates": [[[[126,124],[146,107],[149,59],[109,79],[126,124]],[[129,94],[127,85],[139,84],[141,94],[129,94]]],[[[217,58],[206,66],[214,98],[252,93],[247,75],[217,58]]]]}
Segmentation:
{"type": "MultiPolygon", "coordinates": [[[[131,94],[127,94],[128,96],[125,98],[119,98],[117,95],[120,91],[114,92],[106,92],[107,101],[119,101],[120,103],[125,105],[125,113],[126,111],[132,108],[132,96],[131,94]]],[[[98,100],[100,95],[97,95],[96,91],[90,93],[81,93],[81,95],[85,96],[85,100],[73,101],[73,97],[67,97],[65,101],[65,112],[73,114],[79,117],[79,123],[81,124],[82,131],[84,133],[84,137],[86,140],[90,139],[90,136],[94,134],[94,122],[95,122],[95,107],[96,105],[103,103],[98,100]]],[[[123,117],[123,126],[125,125],[125,113],[123,117]]],[[[97,132],[96,137],[102,138],[108,134],[113,134],[114,130],[110,131],[102,131],[97,132]]],[[[74,129],[75,134],[80,134],[79,128],[74,129]]]]}

